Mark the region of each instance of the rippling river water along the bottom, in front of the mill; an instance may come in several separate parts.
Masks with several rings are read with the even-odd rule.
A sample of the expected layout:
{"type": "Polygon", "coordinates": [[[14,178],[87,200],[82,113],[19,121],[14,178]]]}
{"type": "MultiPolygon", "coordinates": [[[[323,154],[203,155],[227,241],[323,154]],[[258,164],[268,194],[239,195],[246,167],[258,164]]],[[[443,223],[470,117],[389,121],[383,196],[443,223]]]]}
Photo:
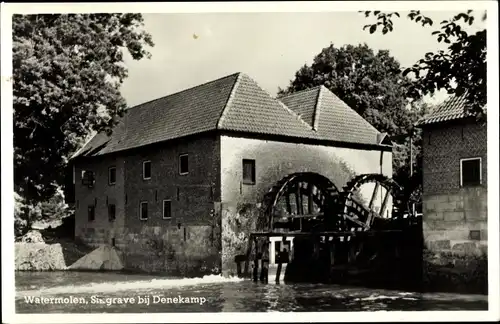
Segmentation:
{"type": "Polygon", "coordinates": [[[16,272],[17,313],[487,310],[484,295],[412,293],[238,278],[16,272]]]}

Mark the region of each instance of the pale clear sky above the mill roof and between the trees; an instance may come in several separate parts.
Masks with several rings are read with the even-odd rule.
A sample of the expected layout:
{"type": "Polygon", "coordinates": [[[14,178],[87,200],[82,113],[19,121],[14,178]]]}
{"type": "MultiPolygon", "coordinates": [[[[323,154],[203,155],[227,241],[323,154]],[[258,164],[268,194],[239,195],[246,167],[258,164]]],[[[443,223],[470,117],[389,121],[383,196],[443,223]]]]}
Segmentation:
{"type": "MultiPolygon", "coordinates": [[[[363,31],[373,18],[357,11],[143,14],[144,28],[155,46],[149,48],[151,59],[134,61],[126,56],[129,77],[122,94],[134,106],[243,72],[275,96],[278,87],[286,87],[295,72],[330,43],[388,49],[408,67],[425,53],[444,49],[431,33],[458,12],[422,13],[434,20],[433,27],[423,28],[401,12],[401,18],[394,20],[394,31],[386,35],[363,31]]],[[[480,19],[476,22],[475,28],[481,27],[480,19]]],[[[439,93],[429,101],[439,103],[445,98],[445,93],[439,93]]]]}

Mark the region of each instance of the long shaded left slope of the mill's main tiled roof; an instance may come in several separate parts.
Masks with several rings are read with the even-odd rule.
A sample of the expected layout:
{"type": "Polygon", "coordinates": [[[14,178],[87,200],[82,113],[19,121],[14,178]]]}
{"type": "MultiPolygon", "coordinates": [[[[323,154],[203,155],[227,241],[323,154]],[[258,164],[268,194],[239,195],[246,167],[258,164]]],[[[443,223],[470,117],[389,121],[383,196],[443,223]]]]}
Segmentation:
{"type": "Polygon", "coordinates": [[[102,155],[216,129],[239,74],[126,110],[111,136],[99,133],[76,155],[102,155]]]}

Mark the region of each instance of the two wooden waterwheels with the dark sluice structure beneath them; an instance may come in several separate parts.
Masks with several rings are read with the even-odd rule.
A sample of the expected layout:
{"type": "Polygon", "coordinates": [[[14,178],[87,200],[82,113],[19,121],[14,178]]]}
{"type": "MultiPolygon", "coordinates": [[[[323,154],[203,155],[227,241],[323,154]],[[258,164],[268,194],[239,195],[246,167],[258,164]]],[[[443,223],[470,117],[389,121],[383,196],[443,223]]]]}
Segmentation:
{"type": "Polygon", "coordinates": [[[319,174],[291,174],[264,196],[246,254],[235,258],[238,275],[267,282],[270,238],[292,238],[291,250],[276,252],[277,281],[284,271],[285,282],[418,287],[422,222],[412,204],[381,174],[357,176],[342,190],[319,174]]]}

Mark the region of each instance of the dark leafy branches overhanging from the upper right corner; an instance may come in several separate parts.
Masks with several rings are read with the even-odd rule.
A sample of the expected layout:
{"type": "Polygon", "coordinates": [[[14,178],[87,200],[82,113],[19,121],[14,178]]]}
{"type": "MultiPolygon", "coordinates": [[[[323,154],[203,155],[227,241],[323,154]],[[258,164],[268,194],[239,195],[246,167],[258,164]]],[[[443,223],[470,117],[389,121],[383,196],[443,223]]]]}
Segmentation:
{"type": "MultiPolygon", "coordinates": [[[[381,30],[382,34],[392,32],[393,18],[399,18],[398,12],[364,11],[366,17],[376,17],[376,22],[367,24],[363,29],[370,33],[381,30]],[[380,28],[379,28],[380,27],[380,28]]],[[[412,21],[423,27],[432,26],[433,21],[419,10],[412,10],[407,15],[412,21]]],[[[482,20],[486,20],[486,13],[482,20]]],[[[411,73],[415,82],[409,88],[412,98],[433,94],[446,89],[449,94],[464,95],[468,102],[468,111],[478,117],[483,116],[486,106],[486,29],[468,33],[465,26],[475,21],[472,10],[461,12],[449,20],[441,22],[441,27],[432,32],[438,42],[449,44],[447,51],[426,53],[404,74],[411,73]]]]}

